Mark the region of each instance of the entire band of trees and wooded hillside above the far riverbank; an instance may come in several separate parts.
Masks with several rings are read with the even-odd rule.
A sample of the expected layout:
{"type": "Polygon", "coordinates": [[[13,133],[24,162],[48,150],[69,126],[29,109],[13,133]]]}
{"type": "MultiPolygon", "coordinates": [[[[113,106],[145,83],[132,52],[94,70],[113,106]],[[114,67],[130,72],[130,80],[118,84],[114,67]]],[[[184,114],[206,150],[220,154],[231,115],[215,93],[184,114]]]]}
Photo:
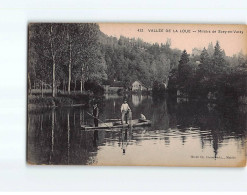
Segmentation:
{"type": "Polygon", "coordinates": [[[172,49],[170,39],[158,44],[107,36],[98,24],[30,24],[28,89],[49,88],[55,97],[59,90],[90,91],[114,81],[128,88],[139,80],[154,94],[168,86],[186,96],[242,95],[246,55],[226,56],[219,42],[206,47],[189,55],[172,49]]]}

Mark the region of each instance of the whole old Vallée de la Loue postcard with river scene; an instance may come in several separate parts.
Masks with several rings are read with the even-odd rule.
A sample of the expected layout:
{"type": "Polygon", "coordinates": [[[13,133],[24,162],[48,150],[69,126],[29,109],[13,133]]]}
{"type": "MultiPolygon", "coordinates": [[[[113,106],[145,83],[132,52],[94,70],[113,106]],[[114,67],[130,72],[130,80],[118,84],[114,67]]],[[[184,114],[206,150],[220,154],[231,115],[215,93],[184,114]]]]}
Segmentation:
{"type": "Polygon", "coordinates": [[[246,165],[247,26],[30,23],[27,163],[246,165]]]}

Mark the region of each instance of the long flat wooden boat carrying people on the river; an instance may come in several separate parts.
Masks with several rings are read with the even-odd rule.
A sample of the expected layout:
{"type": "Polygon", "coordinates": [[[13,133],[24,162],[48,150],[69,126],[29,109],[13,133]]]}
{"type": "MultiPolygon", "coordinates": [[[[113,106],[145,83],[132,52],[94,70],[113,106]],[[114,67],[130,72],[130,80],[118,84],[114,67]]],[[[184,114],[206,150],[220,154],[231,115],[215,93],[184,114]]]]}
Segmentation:
{"type": "Polygon", "coordinates": [[[122,124],[121,121],[117,122],[106,122],[106,123],[99,123],[98,127],[91,127],[91,126],[81,126],[84,130],[95,130],[95,129],[120,129],[120,128],[128,128],[128,127],[142,127],[142,126],[150,126],[150,120],[141,120],[135,119],[130,120],[129,124],[122,124]]]}

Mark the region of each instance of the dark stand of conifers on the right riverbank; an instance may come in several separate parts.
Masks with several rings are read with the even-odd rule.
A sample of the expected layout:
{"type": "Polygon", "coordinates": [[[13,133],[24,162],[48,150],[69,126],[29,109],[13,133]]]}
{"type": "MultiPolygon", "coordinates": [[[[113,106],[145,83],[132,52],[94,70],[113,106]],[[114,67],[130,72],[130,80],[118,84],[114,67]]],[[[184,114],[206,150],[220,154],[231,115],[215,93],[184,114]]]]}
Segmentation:
{"type": "Polygon", "coordinates": [[[246,91],[243,89],[246,73],[240,73],[247,64],[246,56],[225,56],[217,41],[211,55],[204,48],[199,56],[199,64],[195,63],[195,59],[198,57],[190,57],[185,50],[183,51],[178,69],[173,69],[169,75],[170,91],[180,90],[182,95],[189,97],[211,96],[217,99],[234,99],[243,94],[241,90],[246,91]]]}

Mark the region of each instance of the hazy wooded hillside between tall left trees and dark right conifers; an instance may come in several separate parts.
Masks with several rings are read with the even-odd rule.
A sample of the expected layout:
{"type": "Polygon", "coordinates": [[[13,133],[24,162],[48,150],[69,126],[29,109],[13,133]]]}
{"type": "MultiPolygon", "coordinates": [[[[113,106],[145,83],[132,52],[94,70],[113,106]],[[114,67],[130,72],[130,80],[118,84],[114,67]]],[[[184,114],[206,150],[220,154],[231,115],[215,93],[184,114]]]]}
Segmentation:
{"type": "Polygon", "coordinates": [[[103,33],[100,37],[108,79],[122,81],[126,88],[135,80],[149,87],[154,82],[166,86],[170,70],[178,66],[181,52],[170,48],[169,39],[159,45],[123,36],[116,39],[103,33]]]}

